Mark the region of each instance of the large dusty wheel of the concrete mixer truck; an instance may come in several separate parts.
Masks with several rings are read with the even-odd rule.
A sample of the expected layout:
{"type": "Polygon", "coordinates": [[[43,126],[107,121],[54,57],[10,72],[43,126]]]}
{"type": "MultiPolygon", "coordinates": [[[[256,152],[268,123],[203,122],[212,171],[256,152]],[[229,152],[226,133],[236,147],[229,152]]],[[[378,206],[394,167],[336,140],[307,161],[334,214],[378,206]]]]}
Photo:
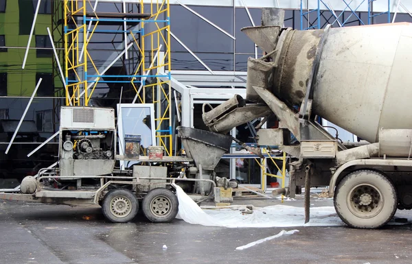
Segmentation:
{"type": "Polygon", "coordinates": [[[396,212],[396,189],[377,171],[354,171],[336,187],[334,207],[339,217],[353,228],[379,228],[396,212]]]}

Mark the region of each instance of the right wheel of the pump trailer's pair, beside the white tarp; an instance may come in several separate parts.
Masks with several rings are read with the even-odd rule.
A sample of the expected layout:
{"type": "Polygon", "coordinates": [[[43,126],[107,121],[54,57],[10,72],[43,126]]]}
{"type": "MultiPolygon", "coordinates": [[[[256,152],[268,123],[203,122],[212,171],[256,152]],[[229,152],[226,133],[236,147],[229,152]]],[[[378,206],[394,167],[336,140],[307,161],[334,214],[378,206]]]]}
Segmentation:
{"type": "Polygon", "coordinates": [[[179,201],[176,195],[165,188],[149,191],[141,205],[146,218],[154,223],[170,222],[179,211],[179,201]]]}

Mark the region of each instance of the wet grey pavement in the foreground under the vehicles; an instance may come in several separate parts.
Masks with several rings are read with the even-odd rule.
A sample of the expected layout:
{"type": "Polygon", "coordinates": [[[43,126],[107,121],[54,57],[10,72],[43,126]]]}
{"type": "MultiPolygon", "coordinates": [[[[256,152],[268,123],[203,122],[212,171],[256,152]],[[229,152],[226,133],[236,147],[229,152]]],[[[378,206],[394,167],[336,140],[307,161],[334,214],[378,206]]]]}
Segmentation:
{"type": "MultiPolygon", "coordinates": [[[[271,205],[279,201],[238,200],[271,205]]],[[[301,206],[301,201],[285,202],[301,206]]],[[[330,206],[314,200],[312,206],[330,206]]],[[[411,216],[412,212],[403,211],[411,216]]],[[[412,226],[380,230],[347,227],[216,228],[175,219],[152,224],[106,221],[100,207],[71,208],[0,200],[0,263],[412,263],[412,226]],[[238,246],[277,235],[239,251],[238,246]],[[167,245],[167,250],[163,250],[167,245]]]]}

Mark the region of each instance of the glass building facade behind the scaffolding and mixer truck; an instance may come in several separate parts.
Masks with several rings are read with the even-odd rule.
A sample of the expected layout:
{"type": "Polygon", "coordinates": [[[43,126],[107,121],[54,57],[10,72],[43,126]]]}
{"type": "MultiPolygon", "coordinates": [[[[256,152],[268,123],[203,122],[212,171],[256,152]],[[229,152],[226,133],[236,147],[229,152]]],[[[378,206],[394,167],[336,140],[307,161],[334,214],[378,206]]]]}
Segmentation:
{"type": "MultiPolygon", "coordinates": [[[[137,12],[140,1],[127,2],[127,10],[137,12]]],[[[195,128],[204,128],[199,118],[203,104],[216,106],[235,92],[244,93],[247,58],[262,56],[262,51],[242,34],[241,29],[260,25],[262,7],[278,7],[273,4],[274,1],[263,0],[225,0],[218,1],[216,5],[212,3],[213,1],[204,2],[198,5],[193,5],[195,1],[170,2],[172,77],[191,91],[190,101],[187,99],[183,101],[179,93],[174,99],[179,100],[181,104],[189,104],[185,109],[189,112],[185,115],[187,120],[183,122],[195,128]]],[[[302,25],[305,28],[319,27],[319,25],[324,27],[328,23],[332,23],[334,27],[341,26],[342,23],[345,26],[363,25],[365,21],[371,20],[367,7],[356,9],[354,6],[351,11],[344,6],[341,7],[341,0],[332,1],[333,6],[320,7],[319,12],[308,13],[309,16],[305,13],[316,10],[318,7],[315,4],[302,5],[301,10],[299,4],[292,6],[290,4],[292,1],[279,2],[280,7],[289,8],[285,12],[285,27],[295,29],[300,29],[302,25]]],[[[317,1],[309,2],[317,3],[317,1]]],[[[376,2],[383,2],[383,0],[376,2]]],[[[62,1],[41,1],[30,49],[25,56],[37,3],[37,0],[0,0],[0,179],[21,179],[35,174],[38,169],[56,162],[58,156],[58,142],[54,139],[36,154],[27,157],[27,154],[58,131],[59,107],[65,104],[62,77],[47,33],[49,27],[54,38],[57,57],[62,67],[67,67],[63,60],[62,1]],[[24,61],[25,67],[22,69],[24,61]],[[5,149],[40,78],[41,85],[25,115],[23,125],[10,147],[10,152],[5,154],[5,149]]],[[[411,16],[407,14],[407,8],[411,8],[409,5],[410,3],[389,1],[389,19],[392,20],[397,13],[395,22],[412,22],[411,16]]],[[[385,7],[382,3],[376,6],[378,9],[385,7]]],[[[100,12],[118,12],[117,10],[122,9],[122,1],[103,0],[98,4],[98,8],[100,12]]],[[[375,13],[384,11],[378,9],[375,13]]],[[[387,22],[388,16],[385,14],[372,17],[372,23],[387,22]]],[[[116,28],[107,25],[105,29],[114,31],[116,28]]],[[[113,53],[122,52],[123,49],[119,48],[122,43],[124,43],[122,35],[107,32],[95,34],[95,38],[89,43],[89,51],[93,58],[96,58],[95,67],[104,67],[110,62],[108,58],[111,58],[113,53]]],[[[106,74],[130,74],[138,62],[139,53],[135,47],[128,51],[127,59],[118,60],[106,74]]],[[[114,82],[98,84],[91,105],[115,108],[122,87],[122,102],[131,102],[135,97],[133,87],[116,80],[123,79],[119,77],[114,82]]],[[[175,124],[179,125],[179,122],[176,121],[175,124]]],[[[232,134],[253,143],[250,130],[246,126],[236,128],[232,134]]],[[[236,146],[233,147],[232,152],[241,154],[236,146]]],[[[261,169],[253,158],[224,159],[219,168],[221,173],[229,173],[231,178],[238,178],[242,182],[262,183],[261,169]]],[[[8,187],[4,181],[3,187],[8,187]]]]}

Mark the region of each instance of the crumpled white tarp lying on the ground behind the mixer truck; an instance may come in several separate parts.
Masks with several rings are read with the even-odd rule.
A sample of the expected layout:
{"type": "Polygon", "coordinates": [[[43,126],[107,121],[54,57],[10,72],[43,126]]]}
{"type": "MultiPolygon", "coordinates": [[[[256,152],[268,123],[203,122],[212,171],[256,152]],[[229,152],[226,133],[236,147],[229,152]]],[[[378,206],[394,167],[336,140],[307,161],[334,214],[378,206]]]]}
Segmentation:
{"type": "MultiPolygon", "coordinates": [[[[179,200],[179,219],[190,224],[202,226],[223,226],[227,228],[270,228],[292,226],[344,226],[333,206],[310,208],[310,221],[305,223],[305,211],[302,207],[275,205],[253,207],[253,213],[242,213],[240,208],[233,206],[224,209],[200,208],[180,187],[176,188],[179,200]]],[[[399,217],[411,216],[400,213],[399,217]]],[[[397,224],[397,223],[391,223],[397,224]]]]}

